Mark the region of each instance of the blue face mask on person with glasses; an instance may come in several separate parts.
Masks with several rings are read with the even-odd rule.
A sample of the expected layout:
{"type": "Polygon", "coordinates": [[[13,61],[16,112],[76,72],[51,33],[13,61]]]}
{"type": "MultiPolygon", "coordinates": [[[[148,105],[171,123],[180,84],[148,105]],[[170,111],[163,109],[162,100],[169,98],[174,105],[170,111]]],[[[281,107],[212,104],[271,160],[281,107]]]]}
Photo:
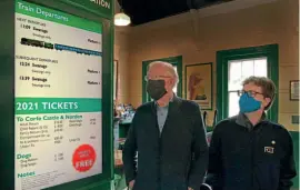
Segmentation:
{"type": "Polygon", "coordinates": [[[261,108],[261,102],[247,93],[243,93],[241,96],[239,104],[240,104],[240,112],[242,113],[253,112],[261,108]]]}

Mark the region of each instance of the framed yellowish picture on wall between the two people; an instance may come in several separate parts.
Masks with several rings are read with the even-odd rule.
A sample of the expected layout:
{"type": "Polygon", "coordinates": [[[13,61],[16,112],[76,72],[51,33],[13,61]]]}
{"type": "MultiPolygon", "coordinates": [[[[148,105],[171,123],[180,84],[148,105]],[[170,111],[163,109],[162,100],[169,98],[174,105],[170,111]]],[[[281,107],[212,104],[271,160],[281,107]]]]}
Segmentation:
{"type": "Polygon", "coordinates": [[[212,62],[186,66],[186,99],[212,110],[212,62]]]}

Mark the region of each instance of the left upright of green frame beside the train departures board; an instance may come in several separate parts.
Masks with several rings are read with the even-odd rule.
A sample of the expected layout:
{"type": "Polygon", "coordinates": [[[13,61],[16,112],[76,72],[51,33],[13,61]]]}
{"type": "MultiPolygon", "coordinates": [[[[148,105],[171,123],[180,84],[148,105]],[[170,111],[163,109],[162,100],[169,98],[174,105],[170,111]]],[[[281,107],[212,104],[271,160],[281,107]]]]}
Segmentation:
{"type": "Polygon", "coordinates": [[[14,189],[14,1],[1,0],[0,189],[14,189]]]}

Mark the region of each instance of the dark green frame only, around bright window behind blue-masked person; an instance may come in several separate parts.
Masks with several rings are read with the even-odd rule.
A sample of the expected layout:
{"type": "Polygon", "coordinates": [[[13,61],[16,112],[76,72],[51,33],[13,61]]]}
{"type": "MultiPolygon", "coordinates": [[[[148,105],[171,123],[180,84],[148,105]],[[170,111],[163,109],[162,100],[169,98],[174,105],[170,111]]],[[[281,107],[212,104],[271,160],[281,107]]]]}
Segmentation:
{"type": "MultiPolygon", "coordinates": [[[[276,87],[278,87],[278,44],[268,44],[217,52],[218,121],[228,117],[228,61],[266,57],[268,61],[268,77],[274,82],[276,87]]],[[[276,100],[271,109],[268,111],[268,118],[274,122],[278,122],[278,100],[279,97],[277,92],[276,100]]]]}

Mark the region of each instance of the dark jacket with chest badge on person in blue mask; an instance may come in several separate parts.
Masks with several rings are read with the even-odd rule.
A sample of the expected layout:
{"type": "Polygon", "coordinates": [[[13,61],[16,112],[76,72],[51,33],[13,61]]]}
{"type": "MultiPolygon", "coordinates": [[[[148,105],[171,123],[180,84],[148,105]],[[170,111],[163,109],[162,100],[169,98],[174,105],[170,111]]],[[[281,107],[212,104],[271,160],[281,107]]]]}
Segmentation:
{"type": "Polygon", "coordinates": [[[296,177],[291,136],[267,120],[249,122],[240,114],[217,124],[207,183],[214,190],[289,190],[296,177]]]}

